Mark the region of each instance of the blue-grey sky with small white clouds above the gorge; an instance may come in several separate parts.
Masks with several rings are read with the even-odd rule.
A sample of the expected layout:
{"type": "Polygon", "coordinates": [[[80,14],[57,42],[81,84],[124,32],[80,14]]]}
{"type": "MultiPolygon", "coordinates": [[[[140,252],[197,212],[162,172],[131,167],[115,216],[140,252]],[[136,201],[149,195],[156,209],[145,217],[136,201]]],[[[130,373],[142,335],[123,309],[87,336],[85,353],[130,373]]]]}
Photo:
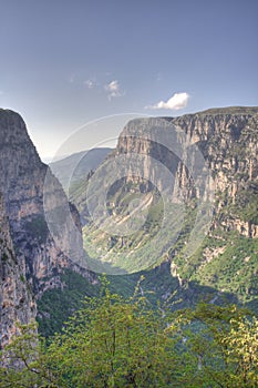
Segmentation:
{"type": "Polygon", "coordinates": [[[44,159],[105,116],[120,120],[87,126],[81,149],[124,113],[257,105],[257,0],[0,0],[0,108],[44,159]]]}

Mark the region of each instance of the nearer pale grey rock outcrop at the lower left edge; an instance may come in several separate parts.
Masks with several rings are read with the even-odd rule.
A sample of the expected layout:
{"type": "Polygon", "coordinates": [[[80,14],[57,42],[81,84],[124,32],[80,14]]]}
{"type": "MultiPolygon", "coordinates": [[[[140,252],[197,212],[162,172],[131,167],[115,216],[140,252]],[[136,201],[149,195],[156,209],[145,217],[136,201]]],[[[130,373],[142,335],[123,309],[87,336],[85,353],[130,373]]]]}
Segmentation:
{"type": "Polygon", "coordinates": [[[10,225],[0,196],[0,349],[16,334],[16,323],[35,315],[32,290],[25,277],[25,261],[16,257],[10,225]]]}

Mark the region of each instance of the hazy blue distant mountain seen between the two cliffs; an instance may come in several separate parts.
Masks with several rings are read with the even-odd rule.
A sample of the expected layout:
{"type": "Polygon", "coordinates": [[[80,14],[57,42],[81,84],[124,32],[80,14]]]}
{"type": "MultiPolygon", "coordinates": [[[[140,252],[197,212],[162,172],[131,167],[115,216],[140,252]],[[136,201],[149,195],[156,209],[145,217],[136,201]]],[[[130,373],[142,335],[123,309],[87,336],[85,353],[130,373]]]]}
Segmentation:
{"type": "Polygon", "coordinates": [[[112,149],[103,147],[78,152],[50,163],[50,169],[68,193],[71,184],[85,180],[87,174],[96,170],[111,151],[112,149]]]}

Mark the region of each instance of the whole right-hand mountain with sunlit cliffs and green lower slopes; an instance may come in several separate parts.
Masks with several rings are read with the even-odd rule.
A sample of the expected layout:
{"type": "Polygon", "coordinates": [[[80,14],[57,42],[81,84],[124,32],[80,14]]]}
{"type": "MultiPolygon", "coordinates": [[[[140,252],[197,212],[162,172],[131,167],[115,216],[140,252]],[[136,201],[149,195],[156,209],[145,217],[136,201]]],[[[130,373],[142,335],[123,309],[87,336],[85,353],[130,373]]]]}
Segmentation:
{"type": "Polygon", "coordinates": [[[258,288],[257,137],[258,108],[211,109],[176,119],[131,121],[114,153],[73,193],[84,222],[85,249],[96,262],[125,272],[152,268],[168,259],[182,286],[197,282],[218,292],[236,293],[245,303],[254,300],[258,288]],[[209,174],[199,169],[198,152],[209,174]],[[161,165],[167,170],[163,172],[161,165]],[[104,213],[100,219],[94,218],[94,208],[102,205],[103,187],[107,193],[107,221],[104,213]],[[168,192],[169,214],[174,213],[175,222],[164,228],[163,194],[168,192]],[[205,214],[199,203],[204,204],[210,192],[214,201],[206,212],[208,228],[198,241],[205,221],[198,218],[198,213],[205,214]],[[92,193],[92,197],[85,193],[92,193]],[[120,233],[140,205],[145,222],[135,233],[120,233]],[[149,261],[155,256],[156,261],[149,261]]]}

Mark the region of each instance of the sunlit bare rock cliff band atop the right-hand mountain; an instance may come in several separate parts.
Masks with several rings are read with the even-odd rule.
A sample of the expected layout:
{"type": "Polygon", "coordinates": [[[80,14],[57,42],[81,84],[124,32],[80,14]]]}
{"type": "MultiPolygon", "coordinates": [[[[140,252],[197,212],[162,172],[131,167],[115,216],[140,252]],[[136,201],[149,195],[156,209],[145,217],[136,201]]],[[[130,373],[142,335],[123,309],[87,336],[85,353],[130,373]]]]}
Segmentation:
{"type": "MultiPolygon", "coordinates": [[[[182,197],[187,202],[205,195],[198,190],[198,176],[193,182],[192,171],[198,165],[199,154],[190,146],[196,145],[210,172],[205,177],[205,190],[214,191],[216,195],[213,227],[220,225],[225,231],[236,229],[245,236],[257,237],[257,219],[249,214],[257,204],[257,144],[258,109],[231,108],[176,119],[133,120],[121,133],[116,154],[151,156],[134,176],[143,176],[164,190],[167,181],[161,178],[161,171],[153,163],[158,160],[174,176],[169,182],[174,200],[182,197]],[[154,131],[151,133],[149,129],[154,131]],[[169,144],[175,143],[174,153],[169,144]]],[[[135,177],[127,176],[126,180],[130,182],[135,177]]]]}

